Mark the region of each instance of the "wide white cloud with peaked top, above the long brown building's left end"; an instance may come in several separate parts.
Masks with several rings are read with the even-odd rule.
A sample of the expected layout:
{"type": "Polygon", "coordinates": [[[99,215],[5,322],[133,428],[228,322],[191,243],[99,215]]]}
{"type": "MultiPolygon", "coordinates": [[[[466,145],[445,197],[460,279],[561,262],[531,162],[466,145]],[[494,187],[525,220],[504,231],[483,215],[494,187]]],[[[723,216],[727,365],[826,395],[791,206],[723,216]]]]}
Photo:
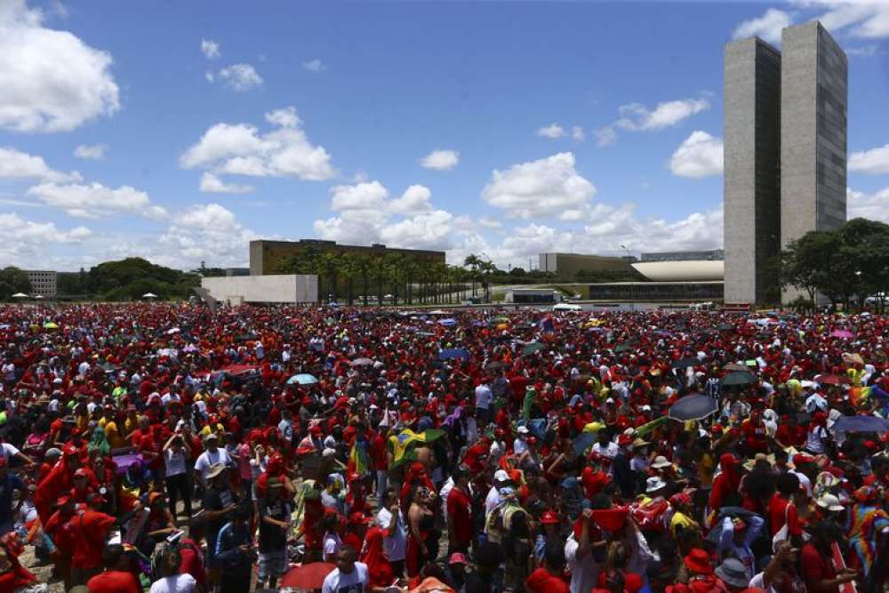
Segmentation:
{"type": "Polygon", "coordinates": [[[308,141],[295,108],[271,111],[266,119],[275,124],[276,129],[260,133],[250,124],[213,125],[180,156],[180,165],[216,174],[254,177],[296,177],[312,181],[333,177],[330,155],[324,147],[313,146],[308,141]]]}

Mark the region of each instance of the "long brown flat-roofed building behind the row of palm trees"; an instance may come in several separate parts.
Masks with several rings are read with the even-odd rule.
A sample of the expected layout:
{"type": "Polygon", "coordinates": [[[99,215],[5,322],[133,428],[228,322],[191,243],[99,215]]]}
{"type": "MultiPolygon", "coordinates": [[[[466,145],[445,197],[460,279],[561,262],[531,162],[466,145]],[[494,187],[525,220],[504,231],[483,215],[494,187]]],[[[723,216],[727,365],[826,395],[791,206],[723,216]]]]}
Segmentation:
{"type": "Polygon", "coordinates": [[[250,274],[252,276],[276,274],[278,266],[283,260],[308,252],[356,253],[377,257],[395,254],[418,263],[445,263],[445,252],[425,249],[399,249],[387,247],[384,244],[342,245],[336,241],[319,239],[300,239],[299,241],[259,239],[250,242],[250,274]]]}

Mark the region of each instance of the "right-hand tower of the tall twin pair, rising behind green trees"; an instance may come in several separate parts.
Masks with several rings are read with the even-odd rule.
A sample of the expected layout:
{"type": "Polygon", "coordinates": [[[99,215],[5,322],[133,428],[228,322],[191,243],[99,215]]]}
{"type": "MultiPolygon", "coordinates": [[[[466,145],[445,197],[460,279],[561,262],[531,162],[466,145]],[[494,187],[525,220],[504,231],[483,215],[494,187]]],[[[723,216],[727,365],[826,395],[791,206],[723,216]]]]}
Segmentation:
{"type": "Polygon", "coordinates": [[[818,21],[781,33],[781,244],[845,222],[845,52],[818,21]]]}

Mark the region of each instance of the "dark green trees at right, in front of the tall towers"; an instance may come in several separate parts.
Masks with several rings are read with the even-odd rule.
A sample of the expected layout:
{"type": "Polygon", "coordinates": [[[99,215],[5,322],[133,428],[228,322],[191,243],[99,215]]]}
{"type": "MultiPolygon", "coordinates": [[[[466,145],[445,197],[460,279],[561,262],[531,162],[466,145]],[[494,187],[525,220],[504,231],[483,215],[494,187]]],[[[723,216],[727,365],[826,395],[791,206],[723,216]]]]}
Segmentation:
{"type": "Polygon", "coordinates": [[[818,294],[836,309],[857,305],[885,312],[889,293],[889,225],[853,219],[830,231],[810,231],[773,261],[781,289],[803,292],[797,307],[813,308],[818,294]]]}

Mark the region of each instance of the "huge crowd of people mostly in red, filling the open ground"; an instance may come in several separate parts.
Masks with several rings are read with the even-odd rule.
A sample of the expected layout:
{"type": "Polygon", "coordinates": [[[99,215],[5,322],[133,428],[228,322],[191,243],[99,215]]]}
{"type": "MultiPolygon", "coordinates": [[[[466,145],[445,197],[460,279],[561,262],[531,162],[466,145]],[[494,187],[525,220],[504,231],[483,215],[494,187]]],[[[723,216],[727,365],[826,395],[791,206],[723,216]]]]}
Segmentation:
{"type": "Polygon", "coordinates": [[[887,346],[868,313],[0,306],[0,593],[46,589],[26,547],[91,593],[882,591],[887,346]]]}

